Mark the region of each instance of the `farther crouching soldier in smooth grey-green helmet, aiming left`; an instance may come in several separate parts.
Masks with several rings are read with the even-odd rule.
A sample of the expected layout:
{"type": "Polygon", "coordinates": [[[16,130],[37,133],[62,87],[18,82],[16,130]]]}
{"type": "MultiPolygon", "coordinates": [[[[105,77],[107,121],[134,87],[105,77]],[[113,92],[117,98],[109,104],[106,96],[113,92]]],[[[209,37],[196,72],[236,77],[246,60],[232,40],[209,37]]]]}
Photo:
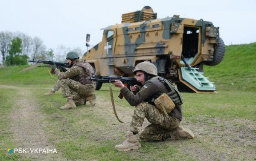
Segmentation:
{"type": "Polygon", "coordinates": [[[68,52],[66,59],[71,66],[66,72],[60,72],[57,66],[52,65],[59,79],[62,96],[67,97],[67,104],[60,109],[73,109],[76,105],[85,104],[86,101],[94,106],[95,82],[89,80],[93,75],[93,67],[86,60],[79,61],[77,52],[68,52]]]}

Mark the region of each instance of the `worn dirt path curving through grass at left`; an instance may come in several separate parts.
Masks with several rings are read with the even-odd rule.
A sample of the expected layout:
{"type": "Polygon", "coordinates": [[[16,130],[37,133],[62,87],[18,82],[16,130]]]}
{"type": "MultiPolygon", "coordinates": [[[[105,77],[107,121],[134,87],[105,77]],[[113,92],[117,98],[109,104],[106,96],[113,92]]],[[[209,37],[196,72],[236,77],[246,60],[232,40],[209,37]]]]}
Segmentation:
{"type": "Polygon", "coordinates": [[[56,153],[56,147],[48,141],[48,135],[44,131],[44,126],[47,126],[46,116],[40,112],[39,103],[32,93],[26,88],[15,86],[1,85],[0,88],[17,89],[18,91],[16,106],[13,106],[12,109],[11,130],[18,145],[15,148],[26,148],[27,153],[20,154],[22,158],[65,160],[60,158],[61,152],[56,150],[56,153]],[[45,151],[39,153],[39,148],[45,151]],[[30,149],[34,149],[33,152],[30,149]]]}

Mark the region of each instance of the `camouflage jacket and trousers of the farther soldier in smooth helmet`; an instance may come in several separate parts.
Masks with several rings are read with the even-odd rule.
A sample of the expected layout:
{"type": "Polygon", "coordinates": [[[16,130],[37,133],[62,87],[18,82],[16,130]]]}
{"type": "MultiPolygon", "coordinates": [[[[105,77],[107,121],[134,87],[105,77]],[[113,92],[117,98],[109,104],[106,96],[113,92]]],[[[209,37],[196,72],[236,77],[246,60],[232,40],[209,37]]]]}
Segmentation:
{"type": "Polygon", "coordinates": [[[89,80],[92,77],[93,68],[86,60],[77,61],[66,72],[56,71],[62,96],[71,96],[73,100],[85,99],[95,92],[95,83],[89,80]]]}

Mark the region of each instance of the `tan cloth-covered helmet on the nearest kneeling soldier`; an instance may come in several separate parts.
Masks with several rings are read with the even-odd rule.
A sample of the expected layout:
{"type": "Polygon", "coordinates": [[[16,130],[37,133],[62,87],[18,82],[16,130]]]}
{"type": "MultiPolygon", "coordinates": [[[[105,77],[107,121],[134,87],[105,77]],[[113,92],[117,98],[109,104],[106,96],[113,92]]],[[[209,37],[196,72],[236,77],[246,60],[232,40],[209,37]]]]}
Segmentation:
{"type": "Polygon", "coordinates": [[[148,60],[138,63],[134,68],[133,74],[136,75],[136,72],[138,71],[143,71],[148,74],[157,76],[157,67],[148,60]]]}

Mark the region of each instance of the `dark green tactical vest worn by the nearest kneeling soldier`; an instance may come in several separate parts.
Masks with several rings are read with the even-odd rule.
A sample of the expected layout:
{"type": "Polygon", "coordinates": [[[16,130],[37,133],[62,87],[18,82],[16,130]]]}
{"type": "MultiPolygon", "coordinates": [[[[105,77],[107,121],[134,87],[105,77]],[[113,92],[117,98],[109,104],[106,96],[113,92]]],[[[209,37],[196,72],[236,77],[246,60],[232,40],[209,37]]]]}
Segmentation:
{"type": "MultiPolygon", "coordinates": [[[[181,105],[183,103],[183,99],[182,99],[182,96],[180,95],[180,92],[178,91],[178,89],[172,84],[172,81],[169,80],[169,79],[165,79],[165,78],[162,78],[162,77],[153,77],[151,78],[150,80],[154,80],[154,79],[157,79],[157,80],[160,80],[160,81],[163,81],[166,88],[168,89],[168,93],[166,93],[171,99],[172,101],[176,104],[176,105],[181,105]]],[[[148,81],[150,81],[148,80],[148,81]]],[[[161,93],[163,94],[163,93],[161,93]]],[[[159,95],[153,95],[152,98],[150,98],[148,100],[148,103],[151,103],[151,104],[154,104],[154,100],[156,98],[158,98],[161,94],[159,95]]]]}

